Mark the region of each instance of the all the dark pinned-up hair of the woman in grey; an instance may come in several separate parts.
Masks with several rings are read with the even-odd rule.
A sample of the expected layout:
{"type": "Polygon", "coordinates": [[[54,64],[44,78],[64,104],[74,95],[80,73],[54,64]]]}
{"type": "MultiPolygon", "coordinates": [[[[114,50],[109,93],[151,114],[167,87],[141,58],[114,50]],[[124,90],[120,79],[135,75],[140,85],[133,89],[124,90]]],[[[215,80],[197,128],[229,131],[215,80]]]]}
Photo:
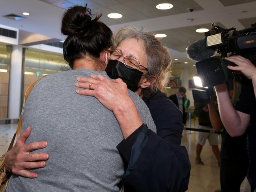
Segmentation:
{"type": "Polygon", "coordinates": [[[110,28],[99,21],[101,15],[96,15],[93,20],[91,16],[91,9],[87,5],[71,7],[63,15],[61,31],[67,35],[63,43],[63,56],[71,69],[75,60],[86,56],[98,59],[100,53],[111,45],[110,28]]]}

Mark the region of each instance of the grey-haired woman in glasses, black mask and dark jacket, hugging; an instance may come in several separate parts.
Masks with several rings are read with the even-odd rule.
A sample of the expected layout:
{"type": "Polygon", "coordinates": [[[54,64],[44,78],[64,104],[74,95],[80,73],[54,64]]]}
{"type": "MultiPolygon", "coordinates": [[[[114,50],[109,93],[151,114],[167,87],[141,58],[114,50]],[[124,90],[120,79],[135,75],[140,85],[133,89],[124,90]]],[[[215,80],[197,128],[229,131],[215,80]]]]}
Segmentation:
{"type": "MultiPolygon", "coordinates": [[[[77,87],[85,89],[77,93],[94,96],[109,109],[125,108],[129,100],[120,95],[125,82],[145,101],[157,127],[157,134],[145,127],[135,129],[117,146],[127,164],[122,178],[125,191],[187,190],[191,165],[187,150],[180,145],[182,112],[160,91],[171,66],[168,50],[152,32],[125,26],[113,35],[108,59],[105,71],[118,79],[101,75],[79,78],[77,87]]],[[[122,121],[120,114],[115,116],[122,121]]]]}

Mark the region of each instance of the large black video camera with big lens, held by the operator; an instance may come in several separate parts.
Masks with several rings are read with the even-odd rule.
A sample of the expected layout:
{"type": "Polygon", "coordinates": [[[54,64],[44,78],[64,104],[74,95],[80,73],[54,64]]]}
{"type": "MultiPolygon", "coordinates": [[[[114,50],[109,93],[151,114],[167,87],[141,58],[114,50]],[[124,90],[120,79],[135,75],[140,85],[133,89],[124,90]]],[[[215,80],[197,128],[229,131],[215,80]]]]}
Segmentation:
{"type": "Polygon", "coordinates": [[[223,84],[234,77],[235,72],[228,69],[228,65],[234,63],[224,60],[230,55],[241,55],[256,63],[256,23],[250,28],[240,31],[235,28],[223,29],[215,24],[205,33],[206,48],[214,48],[220,57],[209,57],[196,63],[198,76],[201,78],[203,87],[211,87],[223,84]],[[232,31],[230,35],[229,32],[232,31]]]}

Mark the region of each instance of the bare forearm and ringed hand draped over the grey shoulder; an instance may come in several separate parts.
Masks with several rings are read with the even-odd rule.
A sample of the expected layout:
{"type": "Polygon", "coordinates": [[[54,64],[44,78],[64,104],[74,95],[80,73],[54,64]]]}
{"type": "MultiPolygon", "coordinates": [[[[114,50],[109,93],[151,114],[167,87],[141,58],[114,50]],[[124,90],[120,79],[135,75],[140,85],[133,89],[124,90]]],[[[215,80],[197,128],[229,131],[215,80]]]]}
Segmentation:
{"type": "Polygon", "coordinates": [[[78,89],[77,93],[93,96],[111,110],[118,120],[123,137],[126,139],[142,125],[137,108],[128,95],[126,84],[121,79],[111,81],[103,75],[92,77],[79,77],[77,79],[80,83],[77,83],[76,86],[85,88],[83,90],[78,89]]]}

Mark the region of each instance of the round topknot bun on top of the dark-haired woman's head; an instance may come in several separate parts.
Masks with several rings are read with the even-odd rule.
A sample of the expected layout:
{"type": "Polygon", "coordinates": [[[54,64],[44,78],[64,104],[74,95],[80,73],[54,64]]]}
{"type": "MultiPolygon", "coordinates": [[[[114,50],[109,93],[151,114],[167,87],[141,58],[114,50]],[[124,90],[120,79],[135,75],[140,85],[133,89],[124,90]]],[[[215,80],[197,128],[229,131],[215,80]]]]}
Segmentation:
{"type": "Polygon", "coordinates": [[[70,7],[63,15],[61,32],[64,35],[87,34],[90,24],[98,21],[101,15],[92,20],[91,9],[83,6],[70,7]]]}

